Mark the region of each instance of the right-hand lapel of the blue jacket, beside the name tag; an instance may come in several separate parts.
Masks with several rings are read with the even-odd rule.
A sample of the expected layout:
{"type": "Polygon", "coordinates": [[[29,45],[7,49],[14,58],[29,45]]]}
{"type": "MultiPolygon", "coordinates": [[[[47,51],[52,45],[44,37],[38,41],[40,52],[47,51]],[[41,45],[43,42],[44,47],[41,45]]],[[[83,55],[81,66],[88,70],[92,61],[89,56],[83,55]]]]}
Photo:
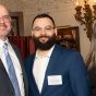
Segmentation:
{"type": "Polygon", "coordinates": [[[58,59],[58,56],[59,56],[59,49],[60,47],[58,47],[57,45],[55,46],[55,49],[50,56],[50,60],[49,60],[49,63],[48,63],[48,68],[47,68],[47,71],[46,71],[46,74],[45,74],[45,80],[44,80],[44,85],[43,85],[43,91],[41,91],[41,94],[43,92],[45,91],[46,86],[48,85],[48,75],[51,75],[51,72],[52,70],[55,69],[55,64],[56,64],[56,60],[58,59]]]}

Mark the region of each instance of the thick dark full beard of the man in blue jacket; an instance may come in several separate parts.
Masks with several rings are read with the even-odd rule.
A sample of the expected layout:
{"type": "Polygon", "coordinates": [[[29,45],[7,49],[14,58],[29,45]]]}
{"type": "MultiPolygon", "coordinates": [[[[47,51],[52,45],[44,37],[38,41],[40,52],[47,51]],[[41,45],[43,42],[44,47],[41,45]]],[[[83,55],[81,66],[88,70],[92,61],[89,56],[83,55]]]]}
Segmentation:
{"type": "Polygon", "coordinates": [[[35,47],[36,49],[40,49],[40,50],[48,50],[50,49],[55,44],[56,44],[56,34],[53,34],[51,37],[49,36],[44,36],[44,37],[47,37],[49,38],[47,43],[41,43],[39,41],[39,38],[43,37],[43,36],[39,36],[39,37],[35,37],[33,35],[33,40],[35,43],[35,47]]]}

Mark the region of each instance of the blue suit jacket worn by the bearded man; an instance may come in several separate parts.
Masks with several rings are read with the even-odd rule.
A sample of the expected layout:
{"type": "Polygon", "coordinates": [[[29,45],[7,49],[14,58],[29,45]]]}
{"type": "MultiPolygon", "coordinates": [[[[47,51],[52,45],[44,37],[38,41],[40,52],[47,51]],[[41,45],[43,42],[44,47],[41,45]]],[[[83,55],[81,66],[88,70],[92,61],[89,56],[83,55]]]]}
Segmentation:
{"type": "Polygon", "coordinates": [[[58,45],[51,53],[45,74],[41,94],[39,94],[34,74],[35,53],[25,61],[25,69],[29,83],[29,96],[91,96],[87,69],[81,55],[58,45]],[[48,85],[48,75],[61,75],[61,85],[48,85]]]}

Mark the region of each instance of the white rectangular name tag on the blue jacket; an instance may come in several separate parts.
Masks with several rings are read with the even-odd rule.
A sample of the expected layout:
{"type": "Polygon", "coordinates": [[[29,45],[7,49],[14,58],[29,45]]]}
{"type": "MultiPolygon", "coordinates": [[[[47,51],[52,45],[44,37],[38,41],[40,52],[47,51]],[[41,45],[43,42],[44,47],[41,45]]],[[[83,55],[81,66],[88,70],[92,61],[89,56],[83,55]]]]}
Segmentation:
{"type": "Polygon", "coordinates": [[[48,85],[62,85],[62,76],[61,75],[49,75],[48,85]]]}

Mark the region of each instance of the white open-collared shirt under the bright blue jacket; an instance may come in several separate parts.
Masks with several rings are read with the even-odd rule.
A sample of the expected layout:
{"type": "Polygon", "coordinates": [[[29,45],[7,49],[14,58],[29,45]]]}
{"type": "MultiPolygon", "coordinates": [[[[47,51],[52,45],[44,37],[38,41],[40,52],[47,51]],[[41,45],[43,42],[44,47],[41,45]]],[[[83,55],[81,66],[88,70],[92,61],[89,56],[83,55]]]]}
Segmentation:
{"type": "Polygon", "coordinates": [[[36,51],[33,73],[34,73],[34,77],[35,77],[36,84],[38,86],[39,93],[41,93],[45,73],[46,73],[52,50],[53,50],[53,47],[49,50],[47,56],[45,56],[43,58],[38,57],[37,51],[36,51]]]}

